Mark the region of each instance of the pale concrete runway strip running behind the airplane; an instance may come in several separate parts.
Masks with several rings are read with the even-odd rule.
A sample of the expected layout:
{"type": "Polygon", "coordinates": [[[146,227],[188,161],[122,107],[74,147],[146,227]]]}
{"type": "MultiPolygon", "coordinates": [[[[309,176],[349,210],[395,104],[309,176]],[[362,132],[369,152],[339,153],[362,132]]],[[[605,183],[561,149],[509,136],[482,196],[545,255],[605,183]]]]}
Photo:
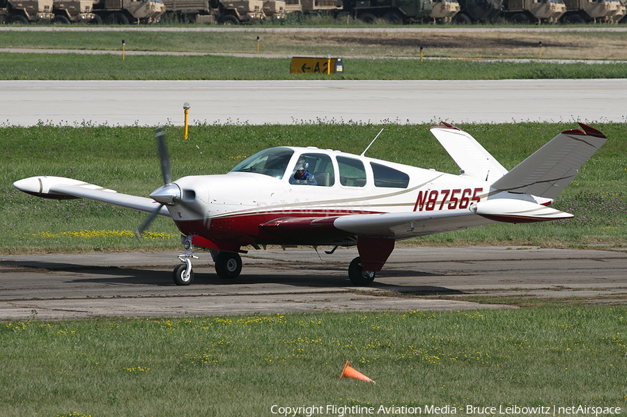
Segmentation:
{"type": "MultiPolygon", "coordinates": [[[[350,62],[346,63],[350,71],[350,62]]],[[[0,124],[626,122],[627,79],[0,81],[0,124]]]]}

